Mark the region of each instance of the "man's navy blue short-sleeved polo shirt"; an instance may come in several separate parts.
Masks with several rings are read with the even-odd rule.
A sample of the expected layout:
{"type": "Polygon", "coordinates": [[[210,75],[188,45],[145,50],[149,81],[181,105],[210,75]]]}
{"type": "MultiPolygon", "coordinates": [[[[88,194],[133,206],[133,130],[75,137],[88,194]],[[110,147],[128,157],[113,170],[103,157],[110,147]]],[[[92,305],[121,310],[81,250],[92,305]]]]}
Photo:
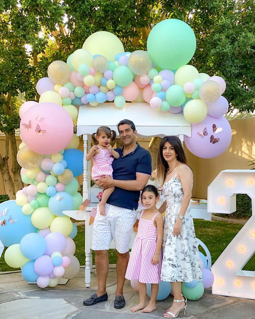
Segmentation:
{"type": "MultiPolygon", "coordinates": [[[[136,180],[136,173],[151,174],[151,156],[150,153],[142,148],[138,143],[135,150],[123,156],[123,147],[115,149],[120,154],[119,159],[113,160],[113,179],[121,181],[136,180]]],[[[108,204],[137,209],[140,191],[126,190],[115,187],[113,193],[107,200],[108,204]]]]}

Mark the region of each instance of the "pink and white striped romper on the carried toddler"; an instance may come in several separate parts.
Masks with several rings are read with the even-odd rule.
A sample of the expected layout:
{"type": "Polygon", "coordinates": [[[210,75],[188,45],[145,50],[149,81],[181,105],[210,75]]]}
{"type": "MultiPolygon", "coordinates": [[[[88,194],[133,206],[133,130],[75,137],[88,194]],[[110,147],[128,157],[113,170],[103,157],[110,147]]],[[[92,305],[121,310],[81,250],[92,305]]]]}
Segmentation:
{"type": "Polygon", "coordinates": [[[101,147],[99,147],[99,149],[99,154],[93,157],[91,177],[94,181],[98,180],[104,175],[109,175],[113,178],[112,153],[108,149],[104,150],[101,147]]]}

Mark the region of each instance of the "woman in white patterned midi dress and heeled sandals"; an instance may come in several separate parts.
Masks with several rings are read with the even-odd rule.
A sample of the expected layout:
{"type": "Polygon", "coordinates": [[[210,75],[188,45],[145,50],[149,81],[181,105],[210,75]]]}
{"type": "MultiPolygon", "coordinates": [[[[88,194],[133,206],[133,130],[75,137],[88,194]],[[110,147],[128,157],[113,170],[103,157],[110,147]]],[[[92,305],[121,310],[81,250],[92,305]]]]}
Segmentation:
{"type": "Polygon", "coordinates": [[[181,293],[182,281],[202,280],[189,204],[193,174],[178,137],[166,136],[162,139],[157,158],[157,176],[162,181],[166,198],[159,208],[159,212],[165,211],[161,280],[171,282],[174,294],[172,305],[164,317],[176,318],[182,309],[185,314],[187,306],[187,299],[181,293]]]}

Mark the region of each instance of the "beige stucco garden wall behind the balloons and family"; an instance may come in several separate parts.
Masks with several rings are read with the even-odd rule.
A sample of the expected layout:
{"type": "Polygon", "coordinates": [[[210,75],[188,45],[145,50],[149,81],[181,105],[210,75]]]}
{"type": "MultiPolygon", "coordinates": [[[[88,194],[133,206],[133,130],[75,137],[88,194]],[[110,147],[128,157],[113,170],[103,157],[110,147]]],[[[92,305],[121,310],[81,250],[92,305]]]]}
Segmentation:
{"type": "MultiPolygon", "coordinates": [[[[232,129],[232,140],[228,149],[214,159],[200,159],[193,155],[185,147],[188,164],[192,168],[194,175],[193,197],[206,198],[207,187],[225,169],[249,169],[248,161],[255,159],[255,117],[230,121],[232,129]]],[[[20,138],[17,137],[17,145],[20,138]]],[[[138,138],[137,141],[144,148],[148,148],[150,139],[138,138]]],[[[80,142],[79,149],[83,150],[83,141],[80,142]]],[[[4,136],[0,136],[0,153],[4,156],[4,136]]],[[[11,156],[9,159],[11,165],[11,156]]],[[[82,184],[83,177],[78,178],[82,184]]],[[[4,194],[3,181],[0,178],[0,194],[4,194]]]]}

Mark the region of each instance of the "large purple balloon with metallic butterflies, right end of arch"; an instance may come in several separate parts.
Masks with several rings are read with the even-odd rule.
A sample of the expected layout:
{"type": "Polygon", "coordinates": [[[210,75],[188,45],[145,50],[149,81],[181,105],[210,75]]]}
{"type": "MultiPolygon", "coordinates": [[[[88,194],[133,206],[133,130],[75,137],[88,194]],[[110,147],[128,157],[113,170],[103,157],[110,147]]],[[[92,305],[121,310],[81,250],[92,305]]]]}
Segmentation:
{"type": "Polygon", "coordinates": [[[191,137],[184,135],[184,142],[194,155],[210,159],[226,151],[231,133],[230,124],[224,116],[207,115],[204,121],[191,124],[191,137]]]}

